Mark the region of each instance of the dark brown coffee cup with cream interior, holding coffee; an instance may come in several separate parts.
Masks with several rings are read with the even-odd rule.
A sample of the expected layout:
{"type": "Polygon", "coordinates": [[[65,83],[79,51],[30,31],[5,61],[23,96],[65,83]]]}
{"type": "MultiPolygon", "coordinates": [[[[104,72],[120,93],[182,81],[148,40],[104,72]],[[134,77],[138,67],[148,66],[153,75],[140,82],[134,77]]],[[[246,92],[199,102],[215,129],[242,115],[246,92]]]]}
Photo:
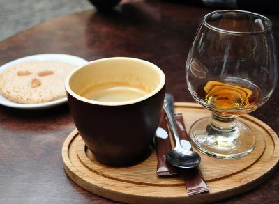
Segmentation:
{"type": "Polygon", "coordinates": [[[66,79],[75,126],[94,157],[128,166],[150,152],[165,95],[165,74],[137,58],[103,58],[66,79]]]}

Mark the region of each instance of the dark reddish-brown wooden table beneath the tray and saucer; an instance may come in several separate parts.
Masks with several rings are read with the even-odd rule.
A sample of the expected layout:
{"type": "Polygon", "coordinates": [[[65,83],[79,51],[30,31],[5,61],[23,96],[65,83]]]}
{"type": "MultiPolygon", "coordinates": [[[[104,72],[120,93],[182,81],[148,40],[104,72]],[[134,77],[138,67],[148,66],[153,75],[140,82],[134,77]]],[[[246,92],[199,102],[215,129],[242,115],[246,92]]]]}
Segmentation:
{"type": "MultiPolygon", "coordinates": [[[[88,10],[34,26],[0,42],[0,65],[16,58],[62,53],[94,60],[142,58],[167,76],[167,92],[194,102],[186,88],[185,63],[199,22],[209,8],[180,3],[138,2],[112,13],[88,10]]],[[[279,16],[273,22],[279,49],[279,16]]],[[[251,113],[279,134],[279,86],[251,113]]],[[[68,105],[42,111],[0,106],[0,203],[116,203],[75,185],[63,170],[61,147],[75,128],[68,105]]],[[[246,194],[220,203],[277,203],[279,171],[246,194]]]]}

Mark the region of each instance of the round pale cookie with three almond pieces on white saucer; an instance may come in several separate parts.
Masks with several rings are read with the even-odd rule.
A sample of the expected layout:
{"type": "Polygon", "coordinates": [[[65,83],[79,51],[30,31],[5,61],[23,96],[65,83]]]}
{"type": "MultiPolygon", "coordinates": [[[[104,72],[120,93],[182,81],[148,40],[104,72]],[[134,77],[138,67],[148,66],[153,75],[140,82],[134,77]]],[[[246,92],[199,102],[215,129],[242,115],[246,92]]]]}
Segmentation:
{"type": "Polygon", "coordinates": [[[0,73],[0,94],[21,104],[38,104],[66,97],[64,82],[77,65],[59,61],[27,61],[0,73]]]}

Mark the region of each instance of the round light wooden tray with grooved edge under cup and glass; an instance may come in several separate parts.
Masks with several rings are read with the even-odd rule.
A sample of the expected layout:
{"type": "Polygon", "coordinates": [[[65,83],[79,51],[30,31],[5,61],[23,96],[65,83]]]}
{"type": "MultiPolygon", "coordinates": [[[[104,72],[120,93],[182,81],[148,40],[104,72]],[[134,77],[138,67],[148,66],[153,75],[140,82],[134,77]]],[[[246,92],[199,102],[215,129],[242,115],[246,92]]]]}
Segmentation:
{"type": "MultiPolygon", "coordinates": [[[[210,112],[194,103],[175,103],[187,131],[210,112]]],[[[156,152],[140,164],[112,168],[96,161],[84,141],[73,130],[63,143],[63,166],[69,177],[93,194],[124,203],[211,203],[236,196],[261,184],[275,171],[279,161],[279,139],[271,128],[249,115],[239,117],[256,132],[256,146],[239,159],[216,159],[200,153],[199,168],[209,185],[207,194],[188,196],[181,175],[158,177],[156,152]]]]}

